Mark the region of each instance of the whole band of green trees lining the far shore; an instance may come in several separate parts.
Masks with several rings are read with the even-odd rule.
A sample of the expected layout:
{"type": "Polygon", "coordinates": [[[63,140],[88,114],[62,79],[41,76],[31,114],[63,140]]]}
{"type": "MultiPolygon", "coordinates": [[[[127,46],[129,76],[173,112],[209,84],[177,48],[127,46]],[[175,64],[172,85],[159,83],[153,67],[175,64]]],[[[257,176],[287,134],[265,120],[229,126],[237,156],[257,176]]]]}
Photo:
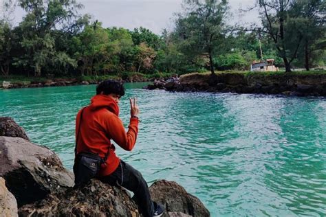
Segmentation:
{"type": "Polygon", "coordinates": [[[8,16],[12,2],[3,1],[0,17],[0,73],[7,78],[162,78],[215,73],[215,68],[248,70],[261,57],[275,59],[286,71],[290,65],[309,69],[326,62],[322,0],[259,0],[259,33],[226,26],[226,0],[184,0],[175,29],[161,36],[144,27],[104,28],[88,14],[78,14],[83,5],[76,0],[19,0],[25,16],[14,26],[8,16]]]}

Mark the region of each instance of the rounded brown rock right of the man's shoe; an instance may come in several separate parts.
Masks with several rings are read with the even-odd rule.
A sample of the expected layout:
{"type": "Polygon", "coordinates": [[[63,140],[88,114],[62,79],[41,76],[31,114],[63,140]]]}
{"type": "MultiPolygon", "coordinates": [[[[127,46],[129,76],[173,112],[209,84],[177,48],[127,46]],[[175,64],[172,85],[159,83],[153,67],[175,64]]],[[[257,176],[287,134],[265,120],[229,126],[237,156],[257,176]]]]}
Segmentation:
{"type": "Polygon", "coordinates": [[[174,181],[155,181],[149,187],[152,200],[164,205],[166,212],[164,216],[169,216],[167,212],[182,212],[191,216],[210,216],[208,209],[199,201],[199,198],[188,194],[184,187],[174,181]]]}

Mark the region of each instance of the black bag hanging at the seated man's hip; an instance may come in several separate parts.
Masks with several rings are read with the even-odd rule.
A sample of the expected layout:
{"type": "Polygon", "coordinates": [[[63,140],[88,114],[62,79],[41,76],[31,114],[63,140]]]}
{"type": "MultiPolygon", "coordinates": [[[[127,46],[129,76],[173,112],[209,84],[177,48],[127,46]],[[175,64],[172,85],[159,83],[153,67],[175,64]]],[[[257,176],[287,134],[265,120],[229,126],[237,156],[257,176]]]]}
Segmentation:
{"type": "Polygon", "coordinates": [[[100,171],[103,159],[93,153],[80,152],[74,162],[75,185],[80,186],[93,179],[100,171]]]}

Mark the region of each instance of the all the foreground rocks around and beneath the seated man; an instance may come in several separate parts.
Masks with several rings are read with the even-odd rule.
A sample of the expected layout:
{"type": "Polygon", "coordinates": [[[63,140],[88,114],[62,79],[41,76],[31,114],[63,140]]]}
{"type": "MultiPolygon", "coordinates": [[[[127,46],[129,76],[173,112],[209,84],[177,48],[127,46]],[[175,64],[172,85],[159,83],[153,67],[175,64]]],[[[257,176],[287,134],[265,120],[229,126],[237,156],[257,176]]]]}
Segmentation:
{"type": "MultiPolygon", "coordinates": [[[[210,216],[199,198],[173,181],[149,191],[164,217],[210,216]]],[[[10,117],[0,117],[0,216],[142,216],[122,187],[93,179],[74,187],[74,174],[49,148],[32,144],[10,117]]]]}

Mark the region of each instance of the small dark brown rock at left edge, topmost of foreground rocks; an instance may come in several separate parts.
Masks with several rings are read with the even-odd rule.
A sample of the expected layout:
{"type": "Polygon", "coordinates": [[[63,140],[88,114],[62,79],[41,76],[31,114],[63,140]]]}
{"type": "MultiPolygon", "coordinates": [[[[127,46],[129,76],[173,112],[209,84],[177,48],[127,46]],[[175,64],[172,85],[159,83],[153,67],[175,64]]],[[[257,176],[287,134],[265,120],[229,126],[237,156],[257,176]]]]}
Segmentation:
{"type": "Polygon", "coordinates": [[[21,137],[28,139],[25,130],[14,122],[11,117],[0,117],[0,136],[5,137],[21,137]]]}

